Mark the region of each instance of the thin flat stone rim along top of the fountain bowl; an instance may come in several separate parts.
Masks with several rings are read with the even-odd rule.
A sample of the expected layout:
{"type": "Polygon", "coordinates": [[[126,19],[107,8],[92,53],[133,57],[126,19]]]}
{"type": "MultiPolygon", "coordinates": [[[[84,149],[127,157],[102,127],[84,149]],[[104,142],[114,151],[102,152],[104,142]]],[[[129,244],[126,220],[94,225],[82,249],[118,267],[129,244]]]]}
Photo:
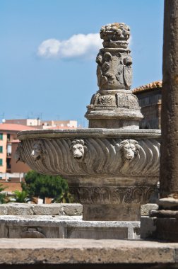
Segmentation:
{"type": "Polygon", "coordinates": [[[70,137],[141,137],[141,138],[160,138],[161,131],[155,129],[121,130],[105,128],[86,128],[86,129],[50,129],[50,130],[27,130],[18,132],[18,139],[51,139],[51,138],[70,138],[70,137]]]}

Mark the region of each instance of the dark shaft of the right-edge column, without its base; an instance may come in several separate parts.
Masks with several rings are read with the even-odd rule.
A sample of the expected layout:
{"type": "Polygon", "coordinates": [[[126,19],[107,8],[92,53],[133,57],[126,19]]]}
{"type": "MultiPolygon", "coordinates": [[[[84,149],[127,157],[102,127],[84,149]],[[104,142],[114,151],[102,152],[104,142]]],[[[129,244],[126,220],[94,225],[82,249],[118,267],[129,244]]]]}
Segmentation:
{"type": "Polygon", "coordinates": [[[160,195],[178,199],[178,2],[165,0],[160,195]],[[176,197],[177,196],[177,197],[176,197]]]}

